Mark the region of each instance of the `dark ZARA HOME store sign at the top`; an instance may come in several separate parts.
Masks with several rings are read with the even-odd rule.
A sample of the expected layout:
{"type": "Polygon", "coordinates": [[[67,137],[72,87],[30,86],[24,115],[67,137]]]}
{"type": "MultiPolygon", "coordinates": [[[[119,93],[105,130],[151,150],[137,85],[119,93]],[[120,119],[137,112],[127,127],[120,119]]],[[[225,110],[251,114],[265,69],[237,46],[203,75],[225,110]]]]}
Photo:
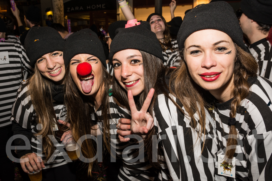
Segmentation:
{"type": "Polygon", "coordinates": [[[64,13],[116,9],[116,1],[112,0],[95,0],[95,1],[71,0],[64,2],[63,5],[64,13]]]}

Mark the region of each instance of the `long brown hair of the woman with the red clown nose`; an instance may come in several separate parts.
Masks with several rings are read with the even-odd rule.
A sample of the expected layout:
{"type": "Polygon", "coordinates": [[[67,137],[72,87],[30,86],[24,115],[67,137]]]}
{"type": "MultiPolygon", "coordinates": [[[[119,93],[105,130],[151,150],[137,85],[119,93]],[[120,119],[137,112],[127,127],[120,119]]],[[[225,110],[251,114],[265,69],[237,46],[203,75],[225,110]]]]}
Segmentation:
{"type": "MultiPolygon", "coordinates": [[[[108,105],[108,99],[105,98],[105,91],[109,87],[109,81],[111,80],[110,75],[106,71],[105,67],[102,66],[103,82],[101,86],[104,86],[101,93],[102,110],[104,106],[108,105]]],[[[65,80],[65,95],[64,100],[67,106],[67,122],[70,122],[70,129],[74,140],[80,141],[79,138],[84,135],[91,134],[92,119],[91,114],[94,113],[93,102],[85,95],[83,95],[74,83],[70,74],[70,64],[66,68],[66,80],[65,80]]],[[[107,109],[105,109],[107,110],[107,109]]],[[[102,111],[102,114],[104,112],[102,111]]],[[[109,125],[104,123],[104,127],[109,129],[109,125]]],[[[105,138],[105,129],[103,138],[105,138]]],[[[104,141],[104,143],[107,141],[104,141]]],[[[81,145],[81,152],[86,158],[93,158],[96,154],[93,142],[90,139],[86,139],[81,145]]],[[[89,163],[88,174],[91,175],[93,162],[89,163]]]]}

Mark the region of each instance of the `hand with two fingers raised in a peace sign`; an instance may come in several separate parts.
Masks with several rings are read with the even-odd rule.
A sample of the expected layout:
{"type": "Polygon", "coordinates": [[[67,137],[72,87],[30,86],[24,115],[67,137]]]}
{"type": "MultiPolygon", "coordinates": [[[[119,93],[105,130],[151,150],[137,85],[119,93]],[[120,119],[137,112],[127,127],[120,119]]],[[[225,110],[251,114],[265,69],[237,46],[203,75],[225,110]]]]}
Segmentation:
{"type": "Polygon", "coordinates": [[[128,91],[128,104],[131,111],[130,130],[132,134],[145,135],[154,127],[154,119],[149,113],[147,113],[153,94],[154,89],[151,88],[147,94],[141,110],[138,111],[133,99],[132,91],[128,91]]]}

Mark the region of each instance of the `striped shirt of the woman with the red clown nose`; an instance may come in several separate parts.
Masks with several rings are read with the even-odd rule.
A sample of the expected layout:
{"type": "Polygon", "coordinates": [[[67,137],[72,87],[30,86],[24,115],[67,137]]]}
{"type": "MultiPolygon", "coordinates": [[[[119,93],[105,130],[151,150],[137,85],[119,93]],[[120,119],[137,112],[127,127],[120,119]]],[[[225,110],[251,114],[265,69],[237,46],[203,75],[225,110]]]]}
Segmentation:
{"type": "MultiPolygon", "coordinates": [[[[111,147],[115,148],[117,158],[121,158],[123,165],[119,170],[118,178],[122,181],[142,181],[142,180],[154,180],[156,173],[154,168],[149,164],[148,157],[144,154],[144,161],[136,160],[130,163],[131,159],[138,157],[139,149],[130,149],[124,151],[125,148],[132,145],[138,145],[135,143],[134,139],[130,139],[128,142],[121,142],[118,138],[116,125],[120,118],[131,119],[130,111],[125,107],[120,105],[114,97],[109,97],[109,107],[110,107],[110,135],[111,135],[111,147]],[[127,153],[128,157],[123,157],[122,154],[127,153]]],[[[100,108],[96,111],[96,115],[99,120],[103,120],[101,116],[102,111],[100,108]]],[[[115,155],[115,154],[114,154],[115,155]]]]}

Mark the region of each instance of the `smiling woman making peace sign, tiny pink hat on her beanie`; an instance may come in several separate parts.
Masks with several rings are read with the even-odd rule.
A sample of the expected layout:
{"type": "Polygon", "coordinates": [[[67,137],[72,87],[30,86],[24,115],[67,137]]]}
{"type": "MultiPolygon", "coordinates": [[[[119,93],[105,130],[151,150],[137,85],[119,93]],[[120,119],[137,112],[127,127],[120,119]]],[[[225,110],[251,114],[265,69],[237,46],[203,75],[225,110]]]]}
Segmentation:
{"type": "MultiPolygon", "coordinates": [[[[154,129],[144,141],[151,163],[161,167],[158,179],[214,180],[218,143],[213,136],[214,121],[204,108],[202,97],[195,96],[193,85],[186,87],[191,90],[187,97],[177,99],[176,94],[169,93],[161,46],[148,22],[142,21],[140,25],[117,31],[109,55],[114,67],[113,94],[119,103],[130,108],[131,124],[135,125],[137,115],[144,120],[149,115],[153,117],[154,129]],[[148,94],[150,90],[154,91],[153,99],[148,94]],[[150,106],[144,102],[147,97],[151,99],[150,106]],[[142,110],[142,106],[147,109],[142,110]],[[152,143],[152,138],[153,141],[156,138],[152,135],[162,139],[160,156],[152,150],[157,146],[152,143]]],[[[122,119],[117,128],[128,129],[122,121],[127,120],[122,119]]],[[[145,134],[142,130],[131,127],[131,133],[145,134]]]]}

